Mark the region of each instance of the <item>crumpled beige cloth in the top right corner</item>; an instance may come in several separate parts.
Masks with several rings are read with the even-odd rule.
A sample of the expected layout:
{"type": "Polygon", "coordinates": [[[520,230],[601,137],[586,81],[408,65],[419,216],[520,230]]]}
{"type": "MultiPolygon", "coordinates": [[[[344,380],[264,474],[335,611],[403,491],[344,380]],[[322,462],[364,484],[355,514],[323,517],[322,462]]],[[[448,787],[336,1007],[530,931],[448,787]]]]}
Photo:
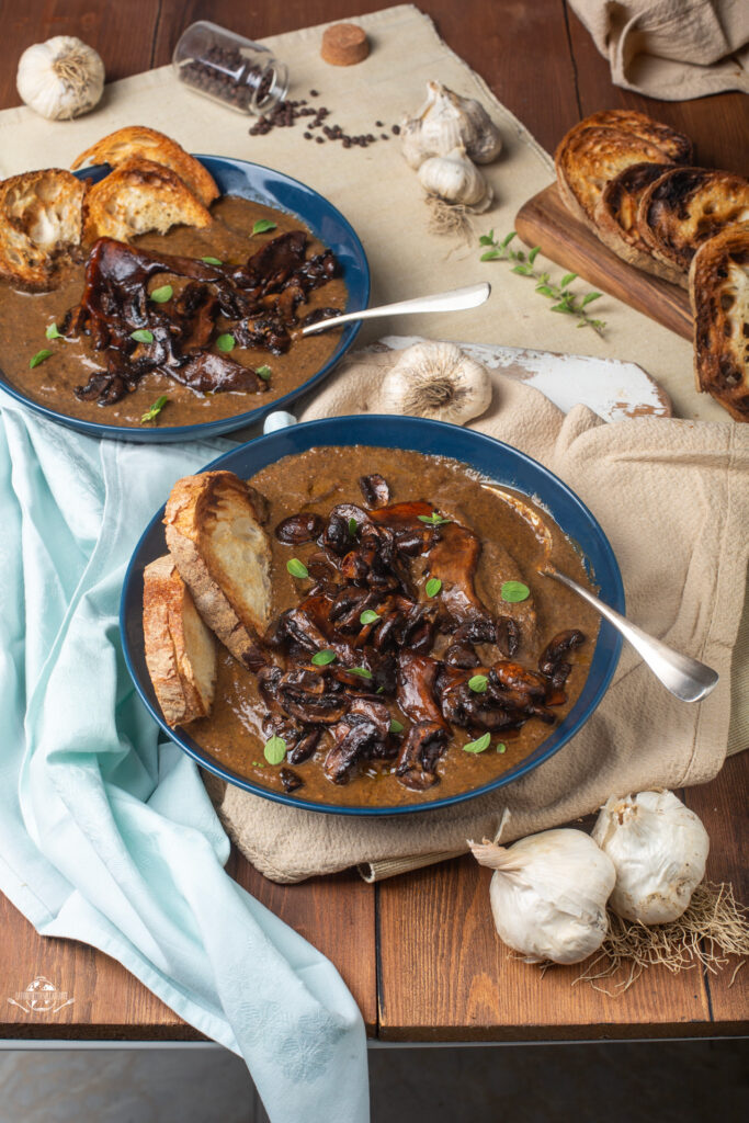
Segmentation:
{"type": "Polygon", "coordinates": [[[749,93],[747,0],[569,0],[611,81],[664,101],[749,93]]]}

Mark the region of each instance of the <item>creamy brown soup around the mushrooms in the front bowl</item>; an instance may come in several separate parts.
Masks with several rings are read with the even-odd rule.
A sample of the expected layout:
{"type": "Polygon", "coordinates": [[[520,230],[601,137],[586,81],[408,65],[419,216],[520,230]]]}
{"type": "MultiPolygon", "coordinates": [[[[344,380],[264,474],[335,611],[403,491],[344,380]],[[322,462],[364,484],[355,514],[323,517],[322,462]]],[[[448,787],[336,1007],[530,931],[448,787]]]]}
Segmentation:
{"type": "MultiPolygon", "coordinates": [[[[597,614],[570,591],[539,576],[537,566],[544,551],[528,521],[491,486],[485,486],[486,481],[457,460],[400,449],[316,448],[285,457],[255,475],[250,483],[270,504],[266,527],[273,548],[273,618],[299,605],[314,584],[312,578],[300,581],[289,573],[290,558],[314,568],[311,559],[320,553],[316,541],[302,545],[281,542],[275,533],[278,524],[298,513],[317,513],[328,519],[331,509],[340,503],[366,509],[359,477],[372,473],[381,474],[386,481],[389,504],[426,500],[440,515],[473,531],[479,539],[475,592],[493,619],[504,615],[517,621],[519,647],[512,656],[515,663],[538,673],[541,652],[552,637],[566,629],[582,630],[585,642],[566,656],[572,669],[564,685],[565,701],[548,707],[554,713],[554,724],[558,724],[579,695],[587,676],[599,629],[597,614]],[[519,603],[504,602],[502,590],[508,581],[523,582],[530,595],[519,603]]],[[[572,542],[546,512],[537,510],[552,535],[554,563],[591,587],[572,542]]],[[[440,533],[440,528],[436,528],[435,536],[439,538],[440,533]]],[[[426,594],[427,576],[423,558],[414,557],[411,578],[419,587],[419,601],[430,601],[431,610],[439,612],[440,599],[445,599],[444,605],[449,602],[450,583],[446,581],[438,595],[429,599],[426,594]]],[[[450,642],[451,637],[439,634],[429,656],[437,660],[445,658],[450,642]]],[[[282,767],[290,767],[295,777],[294,784],[301,782],[300,786],[294,786],[293,795],[304,801],[374,806],[444,798],[484,785],[513,768],[554,729],[554,725],[530,718],[520,729],[492,733],[491,743],[484,751],[469,752],[463,746],[475,741],[484,731],[453,725],[449,743],[436,766],[438,782],[424,791],[404,786],[395,775],[396,761],[393,758],[366,759],[351,769],[344,783],[334,783],[325,773],[326,757],[334,738],[330,727],[326,727],[314,754],[301,764],[290,764],[292,752],[276,766],[264,759],[264,743],[268,737],[266,697],[256,675],[240,666],[220,645],[219,648],[213,712],[210,718],[189,727],[191,737],[218,764],[273,791],[287,789],[282,767]]],[[[475,645],[475,652],[485,665],[506,659],[506,651],[503,654],[492,643],[475,645]]],[[[309,665],[309,655],[305,661],[309,665]]],[[[326,668],[318,669],[323,672],[326,668]]],[[[382,692],[375,697],[403,727],[401,737],[408,734],[413,722],[399,706],[394,694],[382,692]]]]}

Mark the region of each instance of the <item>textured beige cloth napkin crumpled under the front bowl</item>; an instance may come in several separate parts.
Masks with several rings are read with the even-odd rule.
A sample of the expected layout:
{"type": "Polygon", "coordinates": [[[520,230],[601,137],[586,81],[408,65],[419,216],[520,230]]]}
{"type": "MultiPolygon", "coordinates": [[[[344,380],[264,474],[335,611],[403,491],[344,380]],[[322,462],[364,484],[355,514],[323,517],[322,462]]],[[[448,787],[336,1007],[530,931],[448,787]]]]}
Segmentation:
{"type": "MultiPolygon", "coordinates": [[[[302,420],[376,413],[392,353],[351,359],[302,420]]],[[[472,428],[546,464],[591,508],[619,559],[628,615],[714,667],[715,691],[678,702],[624,645],[612,685],[581,732],[540,768],[496,793],[444,810],[359,818],[284,807],[232,786],[211,793],[243,853],[267,877],[300,880],[348,866],[389,876],[504,838],[569,822],[609,795],[711,779],[727,748],[749,745],[749,633],[737,643],[749,563],[749,426],[639,417],[565,417],[537,390],[492,372],[490,410],[472,428]]],[[[387,463],[378,468],[387,474],[387,463]]],[[[745,608],[745,617],[746,617],[745,608]]]]}

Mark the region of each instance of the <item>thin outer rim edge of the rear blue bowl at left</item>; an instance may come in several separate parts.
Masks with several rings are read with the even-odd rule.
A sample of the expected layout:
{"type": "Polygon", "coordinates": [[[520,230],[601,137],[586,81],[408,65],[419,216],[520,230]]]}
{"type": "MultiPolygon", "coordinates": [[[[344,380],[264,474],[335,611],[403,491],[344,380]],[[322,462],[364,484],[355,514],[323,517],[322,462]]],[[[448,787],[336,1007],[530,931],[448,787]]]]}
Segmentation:
{"type": "MultiPolygon", "coordinates": [[[[334,212],[336,220],[340,222],[340,226],[342,227],[347,237],[350,239],[351,246],[356,250],[357,256],[360,257],[360,264],[363,266],[363,281],[364,281],[364,290],[363,290],[364,304],[362,309],[357,309],[357,311],[364,311],[368,307],[369,295],[372,292],[372,274],[369,270],[369,262],[367,259],[367,255],[364,250],[364,246],[362,245],[362,240],[357,235],[356,230],[354,229],[354,227],[351,226],[351,223],[348,221],[345,214],[342,214],[341,211],[339,211],[338,208],[330,202],[329,199],[326,199],[325,195],[321,195],[319,191],[314,190],[314,188],[310,188],[309,184],[303,183],[301,180],[294,179],[293,175],[286,175],[285,172],[277,172],[275,168],[267,167],[265,164],[256,164],[253,161],[240,159],[239,157],[235,156],[210,156],[207,154],[197,154],[197,153],[191,153],[191,155],[193,155],[195,159],[199,159],[203,165],[205,165],[205,161],[216,161],[222,164],[231,164],[231,165],[239,164],[243,167],[257,168],[261,172],[270,173],[272,176],[275,176],[278,180],[285,181],[286,183],[291,183],[294,186],[302,188],[311,195],[314,195],[316,199],[321,200],[326,204],[326,207],[329,207],[330,210],[334,212]]],[[[75,175],[77,179],[84,179],[91,175],[92,173],[101,172],[106,167],[110,167],[110,165],[93,164],[91,167],[79,168],[77,171],[73,172],[73,175],[75,175]]],[[[210,171],[210,167],[208,170],[210,171]]],[[[282,208],[276,208],[276,210],[281,209],[282,208]]],[[[284,213],[295,213],[295,212],[285,211],[284,213]]],[[[303,218],[303,216],[301,214],[295,214],[295,217],[299,218],[300,221],[303,221],[308,226],[310,226],[309,219],[303,218]]],[[[348,311],[354,311],[354,309],[348,309],[348,311]]],[[[201,438],[207,438],[207,437],[223,436],[225,433],[234,432],[235,429],[243,429],[245,428],[245,426],[259,422],[263,420],[263,418],[267,417],[268,413],[274,413],[276,410],[283,410],[286,405],[291,404],[302,394],[308,393],[310,390],[317,386],[317,384],[322,378],[325,378],[327,375],[331,373],[334,367],[338,365],[338,363],[344,358],[347,351],[349,351],[350,348],[353,347],[354,341],[357,335],[359,334],[360,328],[362,328],[360,320],[358,321],[354,320],[351,323],[347,323],[344,328],[344,332],[339,340],[339,345],[332,353],[330,358],[328,358],[327,362],[320,367],[320,369],[317,371],[313,375],[311,375],[307,380],[307,382],[303,382],[300,386],[295,386],[293,390],[290,390],[286,394],[283,395],[283,398],[274,399],[266,405],[257,405],[254,410],[248,410],[245,413],[237,413],[234,417],[214,418],[212,421],[199,421],[193,424],[168,426],[163,429],[158,428],[149,429],[148,441],[153,441],[154,444],[166,444],[180,440],[181,438],[200,440],[201,438]],[[163,435],[161,440],[158,433],[163,435]]],[[[79,432],[85,432],[92,437],[97,436],[107,437],[118,440],[129,440],[131,442],[136,440],[141,441],[144,439],[143,431],[139,429],[134,429],[133,426],[116,426],[116,424],[107,424],[106,422],[100,422],[100,421],[86,421],[83,418],[74,418],[70,413],[61,413],[58,410],[54,410],[48,405],[44,405],[42,402],[35,401],[33,398],[27,396],[21,390],[18,390],[10,382],[8,382],[6,374],[2,371],[2,367],[0,367],[0,390],[9,394],[17,402],[20,402],[28,409],[34,410],[35,413],[39,413],[42,414],[42,417],[45,417],[52,421],[56,421],[60,424],[66,426],[67,428],[76,429],[79,432]],[[138,436],[135,437],[134,432],[138,433],[138,436]]]]}

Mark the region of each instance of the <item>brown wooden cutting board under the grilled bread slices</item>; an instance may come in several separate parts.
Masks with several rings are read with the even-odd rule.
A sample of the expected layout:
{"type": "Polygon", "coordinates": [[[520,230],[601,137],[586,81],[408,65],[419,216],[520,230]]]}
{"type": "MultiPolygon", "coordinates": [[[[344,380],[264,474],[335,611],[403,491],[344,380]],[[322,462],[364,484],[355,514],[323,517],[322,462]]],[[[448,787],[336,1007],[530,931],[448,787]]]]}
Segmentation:
{"type": "Polygon", "coordinates": [[[515,230],[528,246],[578,273],[596,289],[618,296],[638,312],[692,339],[692,310],[686,289],[628,265],[612,254],[561,201],[556,183],[539,191],[518,211],[515,230]]]}

